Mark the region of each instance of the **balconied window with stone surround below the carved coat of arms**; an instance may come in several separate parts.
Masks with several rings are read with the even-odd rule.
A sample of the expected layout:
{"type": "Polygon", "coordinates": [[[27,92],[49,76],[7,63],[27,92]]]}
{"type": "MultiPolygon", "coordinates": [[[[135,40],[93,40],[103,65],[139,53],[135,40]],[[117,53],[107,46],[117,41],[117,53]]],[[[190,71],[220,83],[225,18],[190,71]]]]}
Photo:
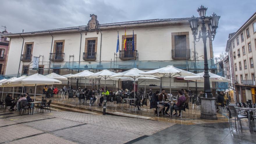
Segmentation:
{"type": "Polygon", "coordinates": [[[97,53],[97,43],[98,38],[86,38],[85,39],[85,49],[83,53],[83,60],[85,61],[95,61],[97,53]]]}

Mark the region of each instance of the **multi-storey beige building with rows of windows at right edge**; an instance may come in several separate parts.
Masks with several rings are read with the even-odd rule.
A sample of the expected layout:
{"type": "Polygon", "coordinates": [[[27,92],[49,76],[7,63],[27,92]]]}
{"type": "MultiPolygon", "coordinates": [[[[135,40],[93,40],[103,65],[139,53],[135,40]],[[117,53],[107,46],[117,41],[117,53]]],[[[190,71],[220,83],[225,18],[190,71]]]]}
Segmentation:
{"type": "Polygon", "coordinates": [[[229,34],[226,51],[230,56],[230,75],[237,102],[253,100],[255,103],[256,13],[235,33],[229,34]]]}

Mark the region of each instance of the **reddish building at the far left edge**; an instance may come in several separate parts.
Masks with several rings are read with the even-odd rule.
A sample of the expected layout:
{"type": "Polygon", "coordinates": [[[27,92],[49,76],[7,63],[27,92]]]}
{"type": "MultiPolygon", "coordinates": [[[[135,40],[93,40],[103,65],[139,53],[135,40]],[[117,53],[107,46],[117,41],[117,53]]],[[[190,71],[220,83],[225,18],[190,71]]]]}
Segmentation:
{"type": "MultiPolygon", "coordinates": [[[[2,34],[9,34],[6,30],[0,32],[2,34]]],[[[8,56],[8,46],[10,38],[1,36],[0,37],[0,74],[4,74],[6,70],[6,59],[8,56]]]]}

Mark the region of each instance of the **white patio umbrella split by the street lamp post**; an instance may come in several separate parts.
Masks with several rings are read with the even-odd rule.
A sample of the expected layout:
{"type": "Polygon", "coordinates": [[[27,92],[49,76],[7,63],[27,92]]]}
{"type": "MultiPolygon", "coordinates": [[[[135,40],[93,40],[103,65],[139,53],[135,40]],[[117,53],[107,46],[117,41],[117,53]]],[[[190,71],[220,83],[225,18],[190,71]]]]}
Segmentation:
{"type": "MultiPolygon", "coordinates": [[[[198,73],[197,75],[195,76],[186,76],[184,77],[184,80],[187,80],[187,81],[204,81],[204,74],[205,72],[201,72],[201,73],[198,73]]],[[[215,81],[215,82],[230,82],[230,79],[227,79],[225,77],[221,77],[217,74],[213,74],[211,72],[209,72],[209,75],[210,75],[210,81],[215,81]]]]}

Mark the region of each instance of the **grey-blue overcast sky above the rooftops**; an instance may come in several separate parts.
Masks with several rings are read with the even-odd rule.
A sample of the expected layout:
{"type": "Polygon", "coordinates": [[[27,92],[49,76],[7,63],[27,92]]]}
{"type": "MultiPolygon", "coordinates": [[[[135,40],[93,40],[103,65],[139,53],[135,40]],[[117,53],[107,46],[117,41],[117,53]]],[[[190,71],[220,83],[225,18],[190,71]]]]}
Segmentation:
{"type": "Polygon", "coordinates": [[[237,31],[256,11],[256,0],[7,0],[1,2],[0,25],[11,33],[86,25],[90,14],[100,24],[143,19],[198,16],[200,5],[207,15],[221,15],[213,42],[214,56],[225,51],[228,34],[237,31]]]}

